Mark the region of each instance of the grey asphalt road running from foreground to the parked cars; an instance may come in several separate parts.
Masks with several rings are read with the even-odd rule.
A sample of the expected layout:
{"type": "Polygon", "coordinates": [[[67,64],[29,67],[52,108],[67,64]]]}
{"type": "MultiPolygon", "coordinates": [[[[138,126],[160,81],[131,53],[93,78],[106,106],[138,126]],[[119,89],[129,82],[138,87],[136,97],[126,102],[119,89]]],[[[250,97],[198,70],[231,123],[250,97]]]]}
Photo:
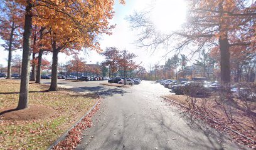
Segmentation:
{"type": "Polygon", "coordinates": [[[242,149],[226,134],[165,102],[160,96],[170,93],[160,84],[142,81],[132,88],[116,88],[101,82],[107,81],[59,82],[104,98],[77,149],[242,149]]]}

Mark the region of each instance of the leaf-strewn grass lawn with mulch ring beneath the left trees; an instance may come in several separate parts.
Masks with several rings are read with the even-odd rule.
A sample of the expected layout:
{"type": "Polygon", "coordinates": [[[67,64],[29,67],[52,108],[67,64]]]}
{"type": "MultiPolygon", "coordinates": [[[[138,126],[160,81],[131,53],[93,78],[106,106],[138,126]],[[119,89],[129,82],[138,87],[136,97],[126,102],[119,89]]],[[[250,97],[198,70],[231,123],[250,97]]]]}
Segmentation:
{"type": "MultiPolygon", "coordinates": [[[[0,113],[16,108],[19,80],[0,80],[0,113]]],[[[0,116],[0,149],[46,149],[83,116],[97,97],[29,84],[29,108],[0,116]]]]}

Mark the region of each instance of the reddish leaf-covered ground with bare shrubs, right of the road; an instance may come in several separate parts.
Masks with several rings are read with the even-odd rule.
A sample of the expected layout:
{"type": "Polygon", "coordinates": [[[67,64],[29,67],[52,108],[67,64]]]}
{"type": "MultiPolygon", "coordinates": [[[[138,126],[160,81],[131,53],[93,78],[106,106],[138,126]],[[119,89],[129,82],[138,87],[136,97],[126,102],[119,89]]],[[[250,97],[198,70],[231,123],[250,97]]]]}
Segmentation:
{"type": "Polygon", "coordinates": [[[180,108],[188,112],[193,118],[205,121],[211,128],[227,133],[238,144],[256,149],[255,101],[246,101],[247,104],[245,105],[241,99],[234,99],[233,102],[221,101],[220,99],[216,99],[216,96],[193,98],[184,95],[168,95],[164,96],[164,98],[167,98],[166,101],[174,106],[185,106],[186,108],[180,108]],[[173,101],[178,104],[173,103],[173,101]],[[230,129],[242,134],[246,138],[230,129]]]}

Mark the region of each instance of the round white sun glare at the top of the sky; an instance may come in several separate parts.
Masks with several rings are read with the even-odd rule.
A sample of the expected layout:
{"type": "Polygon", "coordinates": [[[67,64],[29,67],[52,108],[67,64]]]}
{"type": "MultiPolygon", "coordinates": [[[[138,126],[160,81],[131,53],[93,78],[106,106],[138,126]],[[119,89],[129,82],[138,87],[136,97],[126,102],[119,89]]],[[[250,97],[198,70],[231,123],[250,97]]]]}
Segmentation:
{"type": "Polygon", "coordinates": [[[186,19],[186,2],[184,0],[156,0],[151,16],[157,30],[163,33],[176,31],[186,19]]]}

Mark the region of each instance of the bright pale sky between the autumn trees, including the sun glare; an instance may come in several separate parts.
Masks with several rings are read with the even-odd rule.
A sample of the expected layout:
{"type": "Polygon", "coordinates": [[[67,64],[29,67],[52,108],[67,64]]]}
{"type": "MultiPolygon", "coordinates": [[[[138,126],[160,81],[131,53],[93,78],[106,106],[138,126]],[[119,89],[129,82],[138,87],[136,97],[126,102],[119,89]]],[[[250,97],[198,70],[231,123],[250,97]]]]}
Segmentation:
{"type": "MultiPolygon", "coordinates": [[[[169,32],[179,29],[179,26],[185,21],[186,16],[186,4],[183,0],[127,0],[123,6],[119,4],[118,0],[115,2],[114,11],[115,16],[110,22],[117,24],[113,30],[111,36],[103,36],[100,41],[101,48],[105,47],[117,47],[120,50],[126,49],[138,57],[137,63],[142,62],[142,66],[148,69],[149,64],[156,62],[164,63],[163,55],[166,53],[164,49],[157,49],[153,54],[146,49],[139,49],[134,44],[136,41],[136,32],[131,31],[129,28],[129,22],[125,21],[125,16],[132,14],[134,11],[142,11],[148,8],[153,8],[151,19],[155,26],[161,32],[169,32]]],[[[0,44],[1,44],[0,40],[0,44]]],[[[15,51],[15,54],[22,54],[22,51],[15,51]]],[[[80,57],[85,58],[88,64],[104,61],[104,57],[97,54],[95,51],[89,51],[87,55],[83,52],[80,57]]],[[[169,56],[171,57],[171,56],[169,56]]],[[[0,46],[0,64],[7,66],[6,59],[8,58],[8,51],[4,51],[0,46]]],[[[51,61],[51,54],[43,56],[43,58],[51,61]]],[[[72,59],[72,56],[66,56],[65,54],[59,54],[59,63],[65,63],[72,59]]]]}

